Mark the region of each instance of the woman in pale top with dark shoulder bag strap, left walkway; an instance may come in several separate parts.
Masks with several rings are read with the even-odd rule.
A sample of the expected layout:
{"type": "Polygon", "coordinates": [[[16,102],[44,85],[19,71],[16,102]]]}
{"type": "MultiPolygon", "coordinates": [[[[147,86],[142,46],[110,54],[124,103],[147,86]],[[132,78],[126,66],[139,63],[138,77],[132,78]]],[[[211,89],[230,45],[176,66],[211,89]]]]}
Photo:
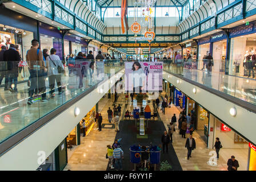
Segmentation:
{"type": "Polygon", "coordinates": [[[56,49],[51,48],[51,55],[49,55],[46,60],[47,60],[47,68],[48,68],[48,77],[49,77],[49,86],[50,86],[50,97],[54,98],[55,94],[55,80],[57,82],[58,86],[58,91],[59,94],[63,93],[62,90],[62,84],[61,84],[61,77],[62,73],[65,71],[65,68],[61,62],[61,59],[59,59],[59,56],[56,55],[56,49]],[[62,68],[62,69],[59,69],[62,68]],[[60,72],[61,70],[61,72],[60,72]]]}

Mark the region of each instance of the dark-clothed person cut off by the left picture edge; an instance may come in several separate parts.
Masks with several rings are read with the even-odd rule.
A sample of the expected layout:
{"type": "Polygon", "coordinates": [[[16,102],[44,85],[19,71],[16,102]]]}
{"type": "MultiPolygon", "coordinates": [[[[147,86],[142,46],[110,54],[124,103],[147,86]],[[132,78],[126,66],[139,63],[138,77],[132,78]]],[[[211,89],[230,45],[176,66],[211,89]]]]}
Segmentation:
{"type": "Polygon", "coordinates": [[[6,46],[1,46],[0,51],[0,85],[5,77],[5,90],[9,90],[9,76],[7,71],[7,61],[3,59],[3,53],[6,51],[6,46]]]}

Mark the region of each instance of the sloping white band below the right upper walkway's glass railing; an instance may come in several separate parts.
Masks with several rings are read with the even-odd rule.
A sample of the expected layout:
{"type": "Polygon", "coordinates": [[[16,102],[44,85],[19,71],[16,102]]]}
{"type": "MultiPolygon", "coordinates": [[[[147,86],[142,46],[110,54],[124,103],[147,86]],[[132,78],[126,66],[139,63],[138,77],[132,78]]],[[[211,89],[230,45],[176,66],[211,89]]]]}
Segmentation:
{"type": "Polygon", "coordinates": [[[183,93],[187,94],[187,96],[191,97],[194,101],[205,107],[219,119],[226,122],[227,125],[233,127],[234,130],[241,133],[245,138],[251,140],[253,143],[256,143],[256,122],[253,120],[253,118],[256,118],[256,113],[237,106],[232,102],[226,101],[225,99],[194,86],[193,84],[190,84],[184,80],[179,79],[180,83],[177,84],[178,77],[170,75],[169,73],[163,72],[163,78],[176,86],[179,90],[182,90],[183,93]],[[195,94],[193,93],[193,88],[197,89],[195,94]],[[237,110],[237,115],[235,117],[229,114],[231,107],[235,107],[237,110]]]}

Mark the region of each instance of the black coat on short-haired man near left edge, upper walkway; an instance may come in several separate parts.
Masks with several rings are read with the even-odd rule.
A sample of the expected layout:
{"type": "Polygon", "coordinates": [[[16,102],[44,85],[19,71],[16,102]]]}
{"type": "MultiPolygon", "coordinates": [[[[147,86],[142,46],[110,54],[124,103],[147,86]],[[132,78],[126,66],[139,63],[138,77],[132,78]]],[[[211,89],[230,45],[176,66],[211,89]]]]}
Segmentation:
{"type": "Polygon", "coordinates": [[[7,69],[9,73],[14,73],[15,76],[18,76],[19,73],[19,61],[21,60],[21,56],[19,56],[19,52],[14,49],[8,49],[3,53],[3,60],[7,61],[7,69]]]}

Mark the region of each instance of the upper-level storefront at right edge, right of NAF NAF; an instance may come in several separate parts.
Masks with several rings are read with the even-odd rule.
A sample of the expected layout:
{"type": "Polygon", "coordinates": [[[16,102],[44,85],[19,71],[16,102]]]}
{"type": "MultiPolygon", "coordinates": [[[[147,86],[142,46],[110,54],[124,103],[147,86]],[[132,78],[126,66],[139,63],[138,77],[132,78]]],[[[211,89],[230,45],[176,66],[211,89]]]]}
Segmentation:
{"type": "MultiPolygon", "coordinates": [[[[256,56],[256,22],[250,22],[247,26],[242,25],[230,29],[230,59],[227,65],[229,75],[249,76],[251,65],[246,63],[255,62],[256,56]]],[[[253,74],[250,74],[253,77],[253,74]]]]}

